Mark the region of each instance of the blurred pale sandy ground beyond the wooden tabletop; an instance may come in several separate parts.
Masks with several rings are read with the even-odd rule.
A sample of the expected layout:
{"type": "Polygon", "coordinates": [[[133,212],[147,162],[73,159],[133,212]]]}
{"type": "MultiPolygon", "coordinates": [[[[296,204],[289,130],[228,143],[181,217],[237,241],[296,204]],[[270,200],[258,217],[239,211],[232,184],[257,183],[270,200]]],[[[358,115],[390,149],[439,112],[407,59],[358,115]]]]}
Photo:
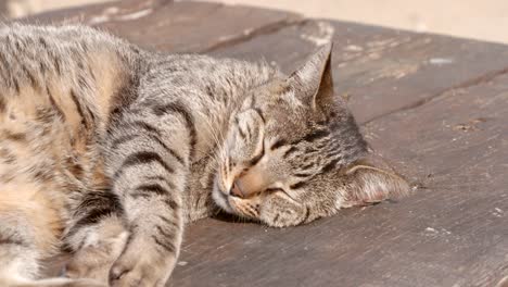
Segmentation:
{"type": "MultiPolygon", "coordinates": [[[[11,16],[103,0],[0,0],[11,16]]],[[[180,0],[181,1],[181,0],[180,0]]],[[[217,0],[508,43],[508,0],[217,0]]]]}

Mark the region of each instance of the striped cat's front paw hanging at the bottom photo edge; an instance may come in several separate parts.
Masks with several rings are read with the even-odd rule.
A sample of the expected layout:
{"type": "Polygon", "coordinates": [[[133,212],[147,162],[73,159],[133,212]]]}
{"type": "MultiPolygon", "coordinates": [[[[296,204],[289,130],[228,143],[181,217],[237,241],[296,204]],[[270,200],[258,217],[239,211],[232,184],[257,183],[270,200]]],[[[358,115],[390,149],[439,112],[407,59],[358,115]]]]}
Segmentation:
{"type": "Polygon", "coordinates": [[[150,238],[134,238],[110,271],[112,287],[163,287],[176,255],[161,252],[150,238]]]}

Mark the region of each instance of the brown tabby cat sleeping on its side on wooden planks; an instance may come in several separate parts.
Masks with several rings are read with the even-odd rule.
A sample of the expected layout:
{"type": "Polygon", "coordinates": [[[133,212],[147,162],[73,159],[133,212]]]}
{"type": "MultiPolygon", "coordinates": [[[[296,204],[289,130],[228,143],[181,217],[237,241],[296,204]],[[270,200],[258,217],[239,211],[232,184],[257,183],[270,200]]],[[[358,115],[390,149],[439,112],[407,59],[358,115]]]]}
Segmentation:
{"type": "Polygon", "coordinates": [[[287,76],[84,26],[0,29],[0,286],[163,286],[186,223],[276,227],[407,192],[333,96],[331,45],[287,76]],[[40,261],[69,252],[66,277],[40,261]]]}

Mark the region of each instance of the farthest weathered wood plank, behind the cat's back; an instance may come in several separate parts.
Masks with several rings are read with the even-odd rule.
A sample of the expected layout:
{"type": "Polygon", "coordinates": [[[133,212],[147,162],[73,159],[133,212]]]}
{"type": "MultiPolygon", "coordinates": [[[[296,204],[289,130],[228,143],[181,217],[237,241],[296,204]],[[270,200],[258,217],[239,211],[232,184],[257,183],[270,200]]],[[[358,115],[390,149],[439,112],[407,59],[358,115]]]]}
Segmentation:
{"type": "Polygon", "coordinates": [[[128,0],[39,14],[30,23],[81,23],[104,28],[149,50],[203,52],[303,21],[272,10],[220,3],[128,0]]]}

